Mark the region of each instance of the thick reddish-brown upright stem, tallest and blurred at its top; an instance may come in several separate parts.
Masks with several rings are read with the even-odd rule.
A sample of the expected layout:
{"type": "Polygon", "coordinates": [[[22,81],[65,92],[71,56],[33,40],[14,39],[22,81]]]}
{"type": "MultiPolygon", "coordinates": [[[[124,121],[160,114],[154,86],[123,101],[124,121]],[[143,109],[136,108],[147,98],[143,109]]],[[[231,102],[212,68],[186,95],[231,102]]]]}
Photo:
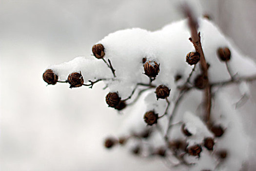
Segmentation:
{"type": "Polygon", "coordinates": [[[203,53],[203,49],[202,49],[200,32],[199,33],[197,32],[198,23],[197,23],[197,20],[195,19],[195,17],[193,16],[191,9],[187,5],[184,5],[183,10],[184,10],[185,15],[188,17],[188,25],[189,25],[190,31],[191,31],[191,38],[189,38],[189,40],[191,43],[193,43],[197,53],[199,53],[201,70],[205,77],[205,82],[206,82],[206,88],[204,90],[205,91],[204,92],[204,98],[205,98],[204,101],[206,102],[205,121],[207,124],[209,124],[210,114],[211,114],[211,86],[209,84],[208,67],[207,67],[207,63],[205,61],[205,57],[204,57],[204,53],[203,53]]]}

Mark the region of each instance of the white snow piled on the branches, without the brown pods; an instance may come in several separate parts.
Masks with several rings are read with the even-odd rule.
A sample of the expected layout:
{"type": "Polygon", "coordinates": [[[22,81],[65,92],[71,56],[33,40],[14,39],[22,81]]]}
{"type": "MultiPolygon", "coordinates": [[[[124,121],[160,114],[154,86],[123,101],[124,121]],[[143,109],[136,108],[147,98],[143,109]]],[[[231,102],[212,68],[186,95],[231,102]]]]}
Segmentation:
{"type": "MultiPolygon", "coordinates": [[[[225,63],[221,62],[217,57],[218,47],[229,47],[231,51],[231,60],[228,65],[231,71],[237,77],[252,76],[256,74],[256,64],[248,57],[242,55],[236,46],[226,38],[212,22],[199,19],[199,31],[201,32],[201,43],[204,55],[209,67],[209,81],[211,83],[227,81],[230,75],[227,72],[225,63]]],[[[151,32],[140,28],[132,28],[120,30],[109,34],[98,43],[103,44],[105,48],[104,59],[110,60],[116,70],[116,78],[113,77],[111,70],[102,61],[94,56],[77,57],[70,62],[63,64],[51,65],[52,69],[58,76],[59,80],[66,80],[67,76],[72,72],[80,72],[86,81],[106,79],[104,83],[108,86],[109,92],[118,92],[118,95],[125,99],[129,97],[138,83],[149,84],[149,78],[144,75],[142,58],[147,61],[155,61],[159,64],[159,74],[153,85],[166,85],[171,88],[168,100],[171,107],[168,113],[173,110],[174,102],[177,98],[177,86],[184,83],[194,66],[190,66],[185,62],[185,56],[188,52],[194,51],[194,46],[188,40],[190,31],[187,27],[187,20],[181,20],[166,25],[160,30],[151,32]],[[175,82],[175,76],[182,75],[178,83],[175,82]]],[[[154,64],[152,62],[152,64],[154,64]]],[[[47,69],[48,69],[47,68],[47,69]]],[[[191,80],[199,74],[199,68],[196,67],[191,80]]],[[[248,94],[246,83],[241,84],[241,92],[248,94]]],[[[162,115],[165,111],[167,103],[165,100],[157,100],[155,89],[152,88],[142,94],[138,102],[132,106],[133,109],[125,112],[123,128],[120,134],[129,135],[133,131],[140,131],[146,127],[143,122],[143,115],[146,111],[154,110],[158,115],[162,115]]],[[[138,94],[138,91],[135,95],[138,94]]],[[[181,107],[177,110],[177,115],[173,123],[183,122],[188,130],[193,134],[190,138],[186,138],[189,145],[201,144],[205,137],[213,137],[202,122],[201,107],[201,91],[192,90],[188,93],[186,99],[181,103],[181,107]]],[[[247,139],[243,132],[243,126],[239,122],[239,114],[234,106],[229,103],[229,96],[225,92],[218,92],[212,107],[213,121],[223,125],[226,130],[223,137],[217,138],[214,151],[210,152],[203,149],[201,157],[196,159],[193,156],[186,156],[191,162],[196,162],[192,170],[199,169],[215,169],[218,161],[215,154],[218,150],[228,150],[228,157],[225,162],[217,169],[238,171],[242,166],[242,162],[246,160],[247,139]],[[232,169],[230,169],[232,168],[232,169]]],[[[132,101],[132,99],[131,99],[132,101]]],[[[167,118],[160,119],[158,125],[166,131],[167,118]]],[[[172,138],[183,138],[180,132],[180,126],[174,126],[170,132],[172,138]]],[[[158,145],[164,144],[163,137],[159,134],[153,134],[154,139],[149,139],[149,143],[158,142],[158,145]]],[[[154,144],[156,146],[156,144],[154,144]]]]}

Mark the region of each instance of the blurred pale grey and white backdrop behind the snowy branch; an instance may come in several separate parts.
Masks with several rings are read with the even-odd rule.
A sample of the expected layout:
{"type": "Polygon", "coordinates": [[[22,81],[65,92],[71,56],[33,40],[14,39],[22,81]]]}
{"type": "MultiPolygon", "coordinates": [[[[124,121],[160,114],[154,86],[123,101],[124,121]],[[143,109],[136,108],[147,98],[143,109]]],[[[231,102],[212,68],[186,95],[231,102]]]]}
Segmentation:
{"type": "MultiPolygon", "coordinates": [[[[161,159],[105,150],[103,140],[121,127],[108,108],[107,90],[49,85],[50,64],[91,54],[91,47],[119,29],[157,30],[182,19],[180,0],[0,0],[0,170],[168,171],[161,159]]],[[[209,14],[256,61],[256,0],[190,0],[209,14]]],[[[92,71],[93,72],[93,71],[92,71]]],[[[256,90],[243,107],[247,133],[256,140],[256,90]]],[[[255,171],[255,143],[246,169],[255,171]]],[[[242,151],[241,151],[242,152],[242,151]]]]}

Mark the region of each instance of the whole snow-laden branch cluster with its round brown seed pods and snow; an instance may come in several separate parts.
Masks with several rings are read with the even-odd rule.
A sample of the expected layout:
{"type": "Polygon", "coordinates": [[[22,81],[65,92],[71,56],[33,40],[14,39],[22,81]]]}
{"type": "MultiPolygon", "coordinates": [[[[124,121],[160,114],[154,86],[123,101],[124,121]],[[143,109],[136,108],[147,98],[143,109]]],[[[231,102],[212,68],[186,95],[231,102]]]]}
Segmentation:
{"type": "Polygon", "coordinates": [[[211,21],[199,18],[196,24],[191,19],[154,32],[133,28],[111,33],[93,46],[94,56],[50,65],[43,79],[73,88],[99,81],[107,86],[107,104],[125,113],[119,138],[105,141],[109,149],[126,146],[136,156],[158,156],[185,170],[238,171],[247,157],[241,152],[247,150],[247,137],[232,97],[221,87],[256,80],[256,64],[211,21]],[[201,104],[211,108],[206,112],[201,104]],[[147,128],[150,133],[142,136],[147,128]]]}

